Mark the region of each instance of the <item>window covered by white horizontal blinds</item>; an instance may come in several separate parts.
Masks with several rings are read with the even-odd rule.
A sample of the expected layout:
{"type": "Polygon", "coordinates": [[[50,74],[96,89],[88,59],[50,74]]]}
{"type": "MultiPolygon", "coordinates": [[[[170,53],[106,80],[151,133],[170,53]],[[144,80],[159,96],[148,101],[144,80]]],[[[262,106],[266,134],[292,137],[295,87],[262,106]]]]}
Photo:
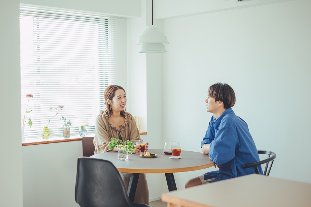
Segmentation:
{"type": "Polygon", "coordinates": [[[32,110],[26,117],[33,123],[25,138],[41,137],[59,105],[48,124],[51,137],[63,136],[62,116],[72,123],[71,135],[86,119],[94,133],[104,89],[114,84],[114,25],[97,14],[21,5],[21,118],[32,110]],[[29,103],[26,94],[33,95],[29,103]]]}

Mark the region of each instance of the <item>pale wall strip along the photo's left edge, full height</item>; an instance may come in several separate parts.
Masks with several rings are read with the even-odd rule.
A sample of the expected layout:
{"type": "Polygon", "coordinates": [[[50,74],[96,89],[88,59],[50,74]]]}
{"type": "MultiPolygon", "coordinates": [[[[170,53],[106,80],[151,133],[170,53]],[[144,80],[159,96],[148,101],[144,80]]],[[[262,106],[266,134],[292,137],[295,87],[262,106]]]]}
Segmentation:
{"type": "Polygon", "coordinates": [[[0,2],[0,206],[23,206],[19,1],[0,2]]]}

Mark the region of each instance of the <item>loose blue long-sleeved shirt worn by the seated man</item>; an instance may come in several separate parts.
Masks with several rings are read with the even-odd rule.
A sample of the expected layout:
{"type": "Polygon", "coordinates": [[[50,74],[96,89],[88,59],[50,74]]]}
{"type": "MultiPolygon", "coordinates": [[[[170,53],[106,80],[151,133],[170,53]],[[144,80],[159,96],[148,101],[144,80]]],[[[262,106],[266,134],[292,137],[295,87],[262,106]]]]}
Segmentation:
{"type": "MultiPolygon", "coordinates": [[[[232,108],[226,109],[218,119],[211,118],[205,137],[201,142],[210,144],[209,156],[220,165],[219,171],[205,173],[204,179],[215,181],[255,173],[253,167],[242,169],[242,165],[259,161],[259,155],[246,122],[234,114],[232,108]]],[[[261,166],[258,166],[262,173],[261,166]]]]}

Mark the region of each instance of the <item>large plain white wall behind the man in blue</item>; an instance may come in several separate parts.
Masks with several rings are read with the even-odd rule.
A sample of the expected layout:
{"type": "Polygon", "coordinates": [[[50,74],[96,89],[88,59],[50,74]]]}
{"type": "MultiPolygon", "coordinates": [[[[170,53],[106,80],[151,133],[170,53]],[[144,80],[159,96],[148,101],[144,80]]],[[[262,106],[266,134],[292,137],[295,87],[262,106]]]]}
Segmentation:
{"type": "MultiPolygon", "coordinates": [[[[165,20],[164,138],[200,151],[212,115],[207,88],[228,83],[258,150],[276,152],[270,176],[311,182],[310,7],[299,0],[165,20]]],[[[177,187],[201,172],[176,173],[177,187]]]]}

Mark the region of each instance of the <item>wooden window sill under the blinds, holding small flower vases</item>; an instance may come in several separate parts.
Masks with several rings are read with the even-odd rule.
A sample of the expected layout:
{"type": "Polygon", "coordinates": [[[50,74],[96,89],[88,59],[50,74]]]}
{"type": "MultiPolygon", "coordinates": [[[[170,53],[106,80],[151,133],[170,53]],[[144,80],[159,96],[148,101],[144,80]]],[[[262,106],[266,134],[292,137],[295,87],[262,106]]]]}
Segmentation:
{"type": "MultiPolygon", "coordinates": [[[[146,135],[146,132],[141,132],[140,135],[146,135]]],[[[86,137],[94,137],[94,134],[87,134],[86,137]]],[[[26,139],[25,142],[22,142],[22,146],[28,145],[40,145],[40,144],[50,144],[58,142],[73,142],[81,141],[82,137],[79,135],[71,136],[69,138],[65,137],[50,137],[49,139],[36,138],[36,139],[26,139]]]]}

